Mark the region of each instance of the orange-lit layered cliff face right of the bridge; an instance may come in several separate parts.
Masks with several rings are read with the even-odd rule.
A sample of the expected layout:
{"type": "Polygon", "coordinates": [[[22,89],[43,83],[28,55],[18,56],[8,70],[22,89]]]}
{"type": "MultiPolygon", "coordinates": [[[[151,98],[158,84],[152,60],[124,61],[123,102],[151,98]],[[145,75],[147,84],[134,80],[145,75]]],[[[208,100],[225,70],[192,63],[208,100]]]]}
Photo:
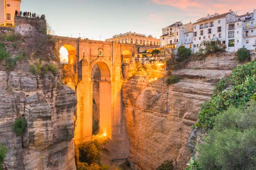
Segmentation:
{"type": "Polygon", "coordinates": [[[164,78],[127,80],[122,94],[134,167],[150,170],[174,160],[176,169],[184,170],[190,157],[187,141],[200,105],[237,64],[235,54],[227,53],[190,62],[186,69],[173,72],[181,80],[169,87],[164,78]]]}

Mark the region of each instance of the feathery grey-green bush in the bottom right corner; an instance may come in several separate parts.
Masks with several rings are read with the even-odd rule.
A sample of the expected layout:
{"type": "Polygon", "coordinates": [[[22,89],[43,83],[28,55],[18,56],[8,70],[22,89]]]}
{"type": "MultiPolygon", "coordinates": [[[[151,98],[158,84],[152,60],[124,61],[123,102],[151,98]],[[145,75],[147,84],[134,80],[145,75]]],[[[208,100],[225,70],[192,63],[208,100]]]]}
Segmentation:
{"type": "Polygon", "coordinates": [[[247,109],[230,107],[215,119],[215,128],[199,144],[199,166],[203,170],[255,170],[256,103],[247,109]]]}

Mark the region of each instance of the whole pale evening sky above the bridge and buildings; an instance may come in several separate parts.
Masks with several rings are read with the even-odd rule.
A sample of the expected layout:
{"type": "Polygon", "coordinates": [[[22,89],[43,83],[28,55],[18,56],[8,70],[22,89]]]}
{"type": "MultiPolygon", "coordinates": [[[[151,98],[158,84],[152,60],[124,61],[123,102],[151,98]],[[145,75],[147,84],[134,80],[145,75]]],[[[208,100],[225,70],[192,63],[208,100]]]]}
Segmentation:
{"type": "Polygon", "coordinates": [[[21,10],[45,14],[55,35],[105,40],[136,32],[159,38],[174,22],[193,23],[208,13],[242,15],[256,0],[22,0],[21,10]]]}

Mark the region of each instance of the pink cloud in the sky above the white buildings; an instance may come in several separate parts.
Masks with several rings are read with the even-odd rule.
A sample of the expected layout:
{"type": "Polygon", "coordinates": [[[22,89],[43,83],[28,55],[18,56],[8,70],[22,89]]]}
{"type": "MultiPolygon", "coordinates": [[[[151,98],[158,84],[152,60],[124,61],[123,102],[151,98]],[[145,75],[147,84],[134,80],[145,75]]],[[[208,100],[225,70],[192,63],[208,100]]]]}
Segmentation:
{"type": "Polygon", "coordinates": [[[256,0],[151,0],[159,5],[168,5],[183,12],[187,15],[207,15],[215,12],[221,14],[226,13],[229,9],[244,14],[253,12],[256,8],[256,0]]]}

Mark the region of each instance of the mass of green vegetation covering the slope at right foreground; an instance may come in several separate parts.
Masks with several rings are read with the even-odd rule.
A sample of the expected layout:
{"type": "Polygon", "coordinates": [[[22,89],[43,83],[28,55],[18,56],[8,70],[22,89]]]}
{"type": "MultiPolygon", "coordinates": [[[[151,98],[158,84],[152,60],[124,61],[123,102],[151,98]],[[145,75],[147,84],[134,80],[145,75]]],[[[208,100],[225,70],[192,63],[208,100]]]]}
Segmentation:
{"type": "Polygon", "coordinates": [[[189,168],[253,170],[256,168],[256,61],[238,65],[221,79],[197,115],[207,136],[196,146],[189,168]]]}

